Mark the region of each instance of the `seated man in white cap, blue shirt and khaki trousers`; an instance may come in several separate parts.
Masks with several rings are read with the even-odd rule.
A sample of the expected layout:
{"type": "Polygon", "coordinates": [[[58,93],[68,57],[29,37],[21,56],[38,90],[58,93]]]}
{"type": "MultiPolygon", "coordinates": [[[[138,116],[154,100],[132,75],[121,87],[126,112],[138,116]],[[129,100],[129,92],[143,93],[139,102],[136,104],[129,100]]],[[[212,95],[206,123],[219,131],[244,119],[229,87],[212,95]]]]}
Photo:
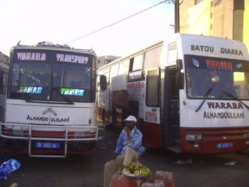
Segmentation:
{"type": "Polygon", "coordinates": [[[116,171],[122,171],[131,162],[136,162],[144,152],[143,135],[136,127],[137,119],[134,116],[128,116],[124,121],[126,126],[119,135],[112,159],[104,167],[104,187],[110,186],[116,171]]]}

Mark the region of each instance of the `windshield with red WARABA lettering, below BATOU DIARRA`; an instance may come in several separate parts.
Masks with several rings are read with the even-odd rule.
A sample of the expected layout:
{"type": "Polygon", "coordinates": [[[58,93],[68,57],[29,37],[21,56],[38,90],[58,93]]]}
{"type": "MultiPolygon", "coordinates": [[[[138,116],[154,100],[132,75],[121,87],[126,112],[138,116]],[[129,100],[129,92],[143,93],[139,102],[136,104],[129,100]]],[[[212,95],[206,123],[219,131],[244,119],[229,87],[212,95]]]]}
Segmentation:
{"type": "Polygon", "coordinates": [[[186,91],[190,99],[249,99],[249,62],[185,56],[186,91]]]}

